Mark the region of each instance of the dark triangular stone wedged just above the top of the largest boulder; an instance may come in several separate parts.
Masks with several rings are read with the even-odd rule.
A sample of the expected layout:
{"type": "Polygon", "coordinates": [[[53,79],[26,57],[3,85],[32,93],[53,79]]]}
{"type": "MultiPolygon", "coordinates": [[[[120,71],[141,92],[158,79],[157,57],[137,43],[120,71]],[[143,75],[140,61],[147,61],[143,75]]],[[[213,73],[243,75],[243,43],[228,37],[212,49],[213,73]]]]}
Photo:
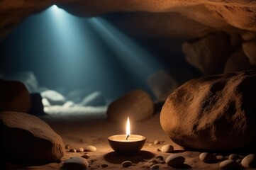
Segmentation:
{"type": "Polygon", "coordinates": [[[230,55],[230,57],[228,57],[228,60],[224,67],[224,73],[239,72],[252,68],[253,67],[250,64],[248,57],[246,57],[243,50],[240,49],[234,52],[233,55],[230,55]]]}

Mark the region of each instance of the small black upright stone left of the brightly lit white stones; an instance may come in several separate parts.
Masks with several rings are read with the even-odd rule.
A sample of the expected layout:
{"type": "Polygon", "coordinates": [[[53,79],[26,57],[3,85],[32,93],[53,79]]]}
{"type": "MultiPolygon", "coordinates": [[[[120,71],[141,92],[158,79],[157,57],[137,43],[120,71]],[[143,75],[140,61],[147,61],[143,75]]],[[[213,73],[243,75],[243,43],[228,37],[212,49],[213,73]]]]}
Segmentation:
{"type": "Polygon", "coordinates": [[[38,93],[30,94],[31,106],[28,111],[30,115],[46,115],[43,111],[42,96],[38,93]]]}

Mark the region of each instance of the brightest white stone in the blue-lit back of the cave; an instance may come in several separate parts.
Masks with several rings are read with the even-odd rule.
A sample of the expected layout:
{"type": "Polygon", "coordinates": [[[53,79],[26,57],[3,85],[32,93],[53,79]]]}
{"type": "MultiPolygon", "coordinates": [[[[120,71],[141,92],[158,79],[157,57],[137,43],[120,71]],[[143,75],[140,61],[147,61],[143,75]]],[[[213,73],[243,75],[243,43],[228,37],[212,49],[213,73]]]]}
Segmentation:
{"type": "Polygon", "coordinates": [[[46,98],[51,105],[63,105],[65,103],[65,97],[57,91],[43,91],[41,92],[41,96],[43,98],[46,98]]]}

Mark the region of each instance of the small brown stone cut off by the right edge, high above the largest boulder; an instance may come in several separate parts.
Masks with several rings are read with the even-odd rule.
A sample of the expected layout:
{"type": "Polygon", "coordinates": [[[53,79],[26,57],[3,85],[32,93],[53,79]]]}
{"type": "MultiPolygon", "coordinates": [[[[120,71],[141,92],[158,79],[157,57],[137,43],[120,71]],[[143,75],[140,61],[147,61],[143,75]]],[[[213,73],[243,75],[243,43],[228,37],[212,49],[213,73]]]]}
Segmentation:
{"type": "Polygon", "coordinates": [[[256,41],[243,42],[243,51],[248,57],[250,64],[256,66],[256,41]]]}

